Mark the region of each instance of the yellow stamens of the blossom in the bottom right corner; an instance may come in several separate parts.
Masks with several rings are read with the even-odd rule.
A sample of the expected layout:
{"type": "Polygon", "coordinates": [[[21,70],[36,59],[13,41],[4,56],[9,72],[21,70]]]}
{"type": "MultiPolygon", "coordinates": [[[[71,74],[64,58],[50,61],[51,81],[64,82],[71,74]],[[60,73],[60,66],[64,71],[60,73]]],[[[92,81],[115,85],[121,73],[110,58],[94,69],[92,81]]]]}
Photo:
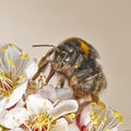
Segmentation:
{"type": "Polygon", "coordinates": [[[94,130],[102,130],[105,127],[105,131],[109,131],[110,127],[114,127],[116,123],[122,123],[122,116],[112,110],[112,116],[108,117],[108,109],[104,105],[103,102],[98,102],[97,104],[92,104],[91,111],[91,122],[94,130]],[[110,119],[110,120],[108,120],[110,119]],[[109,122],[107,124],[107,121],[109,122]]]}

